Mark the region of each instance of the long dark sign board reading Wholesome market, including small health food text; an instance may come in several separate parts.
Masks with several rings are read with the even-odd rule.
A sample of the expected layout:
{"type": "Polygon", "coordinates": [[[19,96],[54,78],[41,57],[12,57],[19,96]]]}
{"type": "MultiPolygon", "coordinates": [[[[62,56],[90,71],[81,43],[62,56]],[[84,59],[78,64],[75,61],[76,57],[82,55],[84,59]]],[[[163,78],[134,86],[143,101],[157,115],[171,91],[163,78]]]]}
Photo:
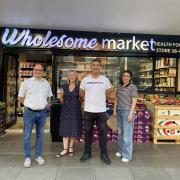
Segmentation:
{"type": "Polygon", "coordinates": [[[127,53],[180,54],[180,36],[0,28],[8,48],[46,48],[127,53]]]}

